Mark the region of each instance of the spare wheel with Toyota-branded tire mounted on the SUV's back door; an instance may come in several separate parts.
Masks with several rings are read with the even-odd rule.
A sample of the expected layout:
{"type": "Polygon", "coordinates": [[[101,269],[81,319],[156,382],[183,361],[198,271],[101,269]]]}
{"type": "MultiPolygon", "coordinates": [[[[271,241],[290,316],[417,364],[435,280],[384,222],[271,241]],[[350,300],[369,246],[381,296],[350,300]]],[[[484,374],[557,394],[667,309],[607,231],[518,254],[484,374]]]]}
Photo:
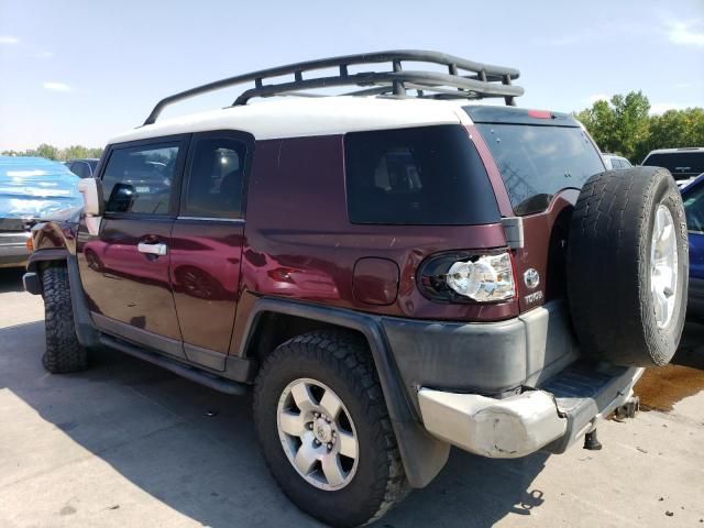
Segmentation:
{"type": "Polygon", "coordinates": [[[592,176],[572,213],[566,266],[583,355],[624,366],[672,359],[690,264],[682,197],[667,169],[592,176]]]}

